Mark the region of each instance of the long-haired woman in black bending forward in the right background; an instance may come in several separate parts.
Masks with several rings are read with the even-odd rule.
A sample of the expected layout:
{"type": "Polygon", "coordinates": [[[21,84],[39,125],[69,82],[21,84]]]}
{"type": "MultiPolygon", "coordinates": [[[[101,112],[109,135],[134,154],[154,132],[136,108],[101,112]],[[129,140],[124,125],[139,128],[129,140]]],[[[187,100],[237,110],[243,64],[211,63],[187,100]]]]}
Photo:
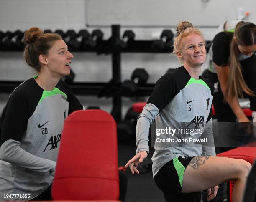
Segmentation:
{"type": "Polygon", "coordinates": [[[220,25],[210,48],[209,78],[214,84],[218,122],[249,122],[238,102],[250,99],[256,122],[256,25],[231,20],[220,25]]]}

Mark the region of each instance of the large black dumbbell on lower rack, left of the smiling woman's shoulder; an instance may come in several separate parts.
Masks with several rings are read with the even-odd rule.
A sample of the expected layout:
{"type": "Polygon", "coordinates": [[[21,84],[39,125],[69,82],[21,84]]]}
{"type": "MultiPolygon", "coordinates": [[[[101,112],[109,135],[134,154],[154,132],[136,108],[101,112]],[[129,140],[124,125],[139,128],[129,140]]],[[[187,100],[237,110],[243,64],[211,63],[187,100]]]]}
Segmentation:
{"type": "Polygon", "coordinates": [[[124,96],[136,96],[138,86],[145,84],[148,78],[149,75],[144,68],[136,68],[131,75],[131,80],[125,80],[122,83],[122,94],[124,96]]]}

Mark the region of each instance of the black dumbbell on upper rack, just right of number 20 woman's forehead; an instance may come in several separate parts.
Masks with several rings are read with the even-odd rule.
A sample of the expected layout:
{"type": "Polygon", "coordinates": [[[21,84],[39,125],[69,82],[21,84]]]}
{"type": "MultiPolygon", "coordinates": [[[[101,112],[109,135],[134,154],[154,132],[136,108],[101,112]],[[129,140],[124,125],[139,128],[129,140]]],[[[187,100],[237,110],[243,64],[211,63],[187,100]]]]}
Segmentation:
{"type": "Polygon", "coordinates": [[[90,34],[87,30],[80,30],[77,34],[77,37],[71,39],[68,43],[70,51],[80,51],[82,43],[90,37],[90,34]]]}

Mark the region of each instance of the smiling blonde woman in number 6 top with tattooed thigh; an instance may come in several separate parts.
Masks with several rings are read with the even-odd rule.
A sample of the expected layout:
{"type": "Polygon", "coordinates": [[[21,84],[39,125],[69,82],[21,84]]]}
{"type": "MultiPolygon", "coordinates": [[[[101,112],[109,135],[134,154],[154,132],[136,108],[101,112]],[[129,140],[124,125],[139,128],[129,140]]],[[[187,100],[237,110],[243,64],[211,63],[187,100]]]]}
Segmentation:
{"type": "Polygon", "coordinates": [[[183,66],[156,82],[138,117],[137,154],[125,167],[129,166],[132,174],[139,174],[137,166],[148,155],[148,131],[155,119],[153,178],[166,202],[200,202],[201,191],[205,189],[208,189],[210,201],[218,192],[218,184],[230,179],[236,180],[233,202],[241,202],[251,164],[241,159],[215,156],[213,89],[211,83],[200,76],[206,57],[205,40],[200,30],[189,22],[179,23],[174,53],[183,66]]]}

